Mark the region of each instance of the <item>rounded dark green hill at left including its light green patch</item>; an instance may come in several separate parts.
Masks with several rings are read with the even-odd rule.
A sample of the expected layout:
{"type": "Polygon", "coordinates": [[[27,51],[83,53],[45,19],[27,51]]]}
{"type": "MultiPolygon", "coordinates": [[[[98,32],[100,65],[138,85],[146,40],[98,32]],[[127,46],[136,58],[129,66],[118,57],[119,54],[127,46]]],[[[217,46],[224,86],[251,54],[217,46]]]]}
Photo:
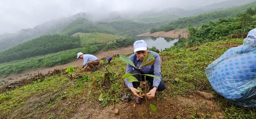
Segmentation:
{"type": "Polygon", "coordinates": [[[84,45],[107,44],[118,39],[121,37],[103,33],[77,33],[75,36],[43,35],[0,52],[0,63],[82,48],[84,45]]]}

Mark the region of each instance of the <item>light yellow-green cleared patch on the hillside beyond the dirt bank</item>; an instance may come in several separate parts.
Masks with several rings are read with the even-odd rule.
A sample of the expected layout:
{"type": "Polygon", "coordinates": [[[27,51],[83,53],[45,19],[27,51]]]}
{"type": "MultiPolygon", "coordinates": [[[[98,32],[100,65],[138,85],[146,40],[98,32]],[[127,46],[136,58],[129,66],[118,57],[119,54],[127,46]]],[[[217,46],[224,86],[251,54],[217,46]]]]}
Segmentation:
{"type": "Polygon", "coordinates": [[[80,36],[81,45],[103,44],[120,39],[120,36],[104,33],[75,33],[73,36],[80,36]]]}

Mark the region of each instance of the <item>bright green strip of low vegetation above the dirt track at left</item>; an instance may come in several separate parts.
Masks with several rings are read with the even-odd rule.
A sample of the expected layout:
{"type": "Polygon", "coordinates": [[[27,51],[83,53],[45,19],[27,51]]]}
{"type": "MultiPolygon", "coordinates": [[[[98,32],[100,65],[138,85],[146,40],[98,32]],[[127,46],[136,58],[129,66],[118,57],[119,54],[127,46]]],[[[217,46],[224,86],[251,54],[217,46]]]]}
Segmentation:
{"type": "Polygon", "coordinates": [[[86,52],[88,54],[95,54],[99,50],[92,46],[84,48],[77,48],[72,50],[60,51],[58,53],[51,53],[43,56],[36,56],[24,60],[15,60],[8,63],[0,64],[0,77],[5,78],[11,73],[19,73],[29,69],[37,69],[40,67],[52,67],[56,64],[67,64],[76,59],[78,52],[86,52]]]}

